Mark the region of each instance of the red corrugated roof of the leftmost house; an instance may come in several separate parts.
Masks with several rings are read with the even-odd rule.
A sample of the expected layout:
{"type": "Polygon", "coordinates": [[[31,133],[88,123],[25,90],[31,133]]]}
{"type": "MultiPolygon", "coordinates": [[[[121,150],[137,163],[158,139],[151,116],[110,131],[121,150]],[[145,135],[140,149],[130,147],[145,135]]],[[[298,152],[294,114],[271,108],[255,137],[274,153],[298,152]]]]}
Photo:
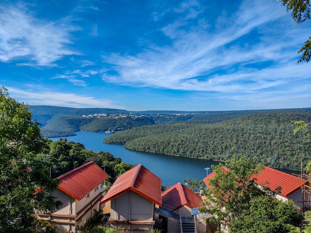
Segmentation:
{"type": "Polygon", "coordinates": [[[58,189],[80,201],[107,178],[108,174],[95,162],[88,162],[57,177],[58,189]]]}

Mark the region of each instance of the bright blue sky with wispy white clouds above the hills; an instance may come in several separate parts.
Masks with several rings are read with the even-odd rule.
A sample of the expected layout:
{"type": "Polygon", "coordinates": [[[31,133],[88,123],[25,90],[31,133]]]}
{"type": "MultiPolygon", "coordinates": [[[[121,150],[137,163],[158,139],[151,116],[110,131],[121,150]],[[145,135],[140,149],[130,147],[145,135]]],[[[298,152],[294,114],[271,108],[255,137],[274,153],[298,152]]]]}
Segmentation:
{"type": "Polygon", "coordinates": [[[0,85],[30,105],[311,107],[309,36],[276,0],[2,0],[0,85]]]}

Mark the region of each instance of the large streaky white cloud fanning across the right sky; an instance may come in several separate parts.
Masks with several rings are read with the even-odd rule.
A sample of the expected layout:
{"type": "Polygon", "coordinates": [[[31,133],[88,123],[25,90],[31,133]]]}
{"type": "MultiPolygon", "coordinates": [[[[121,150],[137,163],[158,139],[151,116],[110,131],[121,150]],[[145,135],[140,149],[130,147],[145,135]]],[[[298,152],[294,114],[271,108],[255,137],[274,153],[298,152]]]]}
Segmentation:
{"type": "Polygon", "coordinates": [[[174,8],[176,20],[161,29],[172,39],[170,46],[153,45],[137,55],[102,56],[112,64],[111,71],[116,71],[107,71],[102,79],[121,85],[249,93],[297,77],[309,78],[307,69],[297,74],[295,48],[301,38],[294,38],[287,25],[280,25],[279,18],[286,11],[277,7],[267,1],[244,1],[234,15],[224,14],[215,21],[227,23],[211,29],[209,25],[215,22],[205,20],[207,12],[203,14],[198,2],[183,2],[174,8]],[[276,34],[268,26],[284,27],[286,32],[276,34]],[[284,40],[285,36],[290,40],[284,40]],[[289,46],[293,47],[290,51],[289,46]]]}

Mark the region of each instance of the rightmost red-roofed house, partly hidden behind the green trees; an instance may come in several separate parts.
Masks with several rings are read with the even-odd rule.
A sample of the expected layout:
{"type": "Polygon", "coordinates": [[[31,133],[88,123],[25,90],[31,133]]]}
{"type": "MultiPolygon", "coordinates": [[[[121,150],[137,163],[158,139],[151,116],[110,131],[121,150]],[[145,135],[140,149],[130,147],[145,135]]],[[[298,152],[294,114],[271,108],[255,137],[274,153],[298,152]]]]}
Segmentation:
{"type": "MultiPolygon", "coordinates": [[[[226,167],[223,167],[225,170],[226,167]]],[[[208,179],[214,176],[214,172],[203,179],[208,187],[208,179]]],[[[285,172],[265,166],[263,171],[253,176],[259,187],[268,187],[274,191],[277,187],[281,187],[281,192],[276,194],[276,198],[282,201],[293,200],[298,208],[302,208],[302,185],[307,185],[307,180],[301,179],[297,176],[287,174],[285,172]]],[[[309,196],[305,196],[305,201],[310,200],[309,196]]]]}

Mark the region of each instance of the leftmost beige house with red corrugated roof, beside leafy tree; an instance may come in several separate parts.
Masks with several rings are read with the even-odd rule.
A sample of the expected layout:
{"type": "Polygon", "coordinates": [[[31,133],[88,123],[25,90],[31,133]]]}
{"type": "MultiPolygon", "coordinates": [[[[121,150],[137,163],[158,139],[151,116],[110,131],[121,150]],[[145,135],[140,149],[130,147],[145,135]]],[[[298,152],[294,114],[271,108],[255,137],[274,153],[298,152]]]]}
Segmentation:
{"type": "Polygon", "coordinates": [[[77,225],[84,226],[86,220],[94,215],[94,209],[100,210],[100,185],[107,178],[108,174],[95,162],[88,162],[57,177],[59,185],[53,196],[63,202],[62,208],[51,214],[37,212],[36,216],[58,226],[61,231],[75,232],[77,225]]]}

